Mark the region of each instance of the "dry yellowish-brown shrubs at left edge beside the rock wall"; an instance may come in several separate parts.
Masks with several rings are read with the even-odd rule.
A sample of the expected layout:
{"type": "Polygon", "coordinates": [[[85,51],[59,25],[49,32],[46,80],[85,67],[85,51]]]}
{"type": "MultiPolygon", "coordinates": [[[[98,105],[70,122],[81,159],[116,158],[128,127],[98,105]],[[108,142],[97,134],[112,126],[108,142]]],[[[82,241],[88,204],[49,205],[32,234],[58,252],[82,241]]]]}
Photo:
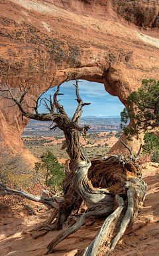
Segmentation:
{"type": "MultiPolygon", "coordinates": [[[[14,155],[8,147],[0,147],[0,182],[10,189],[26,190],[36,196],[41,196],[43,190],[34,168],[30,167],[21,154],[14,155]]],[[[26,201],[25,198],[17,195],[11,198],[2,196],[3,190],[0,194],[0,210],[2,211],[26,201]]]]}

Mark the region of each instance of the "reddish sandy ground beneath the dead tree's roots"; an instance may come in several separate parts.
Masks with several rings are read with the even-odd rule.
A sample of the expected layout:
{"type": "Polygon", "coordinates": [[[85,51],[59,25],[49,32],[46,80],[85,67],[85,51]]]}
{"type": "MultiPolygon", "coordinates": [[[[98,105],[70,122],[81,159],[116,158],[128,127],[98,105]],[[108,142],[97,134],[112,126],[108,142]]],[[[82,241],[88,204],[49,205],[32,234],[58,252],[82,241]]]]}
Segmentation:
{"type": "MultiPolygon", "coordinates": [[[[127,234],[121,238],[112,256],[159,255],[159,168],[148,166],[143,170],[143,179],[148,183],[146,200],[139,208],[138,218],[132,227],[127,229],[127,234]]],[[[42,224],[50,211],[46,208],[39,210],[40,204],[30,205],[36,210],[34,216],[29,216],[23,205],[0,213],[1,256],[42,256],[46,253],[46,245],[60,233],[50,231],[34,239],[29,230],[42,224]]],[[[76,233],[62,241],[50,256],[76,255],[91,243],[102,224],[103,220],[97,220],[91,226],[83,225],[76,233]]]]}

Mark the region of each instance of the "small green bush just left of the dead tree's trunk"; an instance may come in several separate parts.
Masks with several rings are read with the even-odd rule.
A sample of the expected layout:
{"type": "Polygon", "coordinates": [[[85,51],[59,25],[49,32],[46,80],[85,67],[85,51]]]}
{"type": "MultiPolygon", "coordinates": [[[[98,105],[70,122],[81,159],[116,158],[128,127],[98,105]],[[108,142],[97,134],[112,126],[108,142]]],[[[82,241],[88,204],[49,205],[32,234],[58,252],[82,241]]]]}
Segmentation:
{"type": "Polygon", "coordinates": [[[65,176],[64,165],[58,162],[58,159],[50,152],[43,153],[40,157],[42,163],[35,163],[35,170],[42,172],[46,186],[50,188],[61,187],[62,179],[65,176]]]}

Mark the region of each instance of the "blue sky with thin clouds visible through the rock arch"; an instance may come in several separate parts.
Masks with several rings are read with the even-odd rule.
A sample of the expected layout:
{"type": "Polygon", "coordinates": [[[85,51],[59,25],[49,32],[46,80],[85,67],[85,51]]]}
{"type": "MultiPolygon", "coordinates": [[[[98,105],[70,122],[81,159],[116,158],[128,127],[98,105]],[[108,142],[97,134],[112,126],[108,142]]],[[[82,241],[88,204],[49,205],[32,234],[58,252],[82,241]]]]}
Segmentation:
{"type": "MultiPolygon", "coordinates": [[[[118,97],[111,96],[105,91],[104,85],[94,82],[88,82],[86,80],[79,83],[79,96],[84,102],[91,102],[91,105],[85,105],[83,107],[82,117],[88,115],[95,115],[97,117],[107,117],[120,115],[123,111],[124,105],[121,103],[118,97]]],[[[64,96],[59,96],[60,104],[64,105],[64,109],[69,117],[74,115],[74,111],[78,106],[76,99],[76,87],[75,81],[68,81],[62,84],[60,87],[60,93],[64,96]]],[[[55,88],[56,89],[56,88],[55,88]]],[[[54,88],[51,88],[44,94],[44,97],[54,95],[54,88]]],[[[40,106],[39,111],[44,113],[44,106],[40,106]]]]}

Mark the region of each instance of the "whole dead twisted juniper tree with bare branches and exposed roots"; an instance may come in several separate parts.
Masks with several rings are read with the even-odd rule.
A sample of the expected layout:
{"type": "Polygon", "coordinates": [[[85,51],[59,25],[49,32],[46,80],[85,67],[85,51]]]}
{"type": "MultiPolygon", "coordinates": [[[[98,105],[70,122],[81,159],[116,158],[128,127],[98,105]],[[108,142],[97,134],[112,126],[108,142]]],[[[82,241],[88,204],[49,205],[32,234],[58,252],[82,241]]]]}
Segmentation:
{"type": "Polygon", "coordinates": [[[4,93],[4,98],[14,101],[25,117],[40,121],[52,121],[54,126],[50,129],[54,130],[59,127],[64,131],[66,151],[70,157],[68,173],[63,180],[64,196],[46,197],[45,194],[42,194],[41,197],[38,197],[23,190],[11,190],[3,184],[0,186],[4,194],[18,194],[52,208],[52,215],[48,222],[36,229],[37,232],[42,229],[46,232],[62,229],[60,234],[48,245],[47,253],[52,253],[60,241],[77,231],[90,216],[95,216],[95,218],[105,216],[99,233],[91,244],[85,250],[83,249],[83,255],[109,255],[125,229],[136,218],[138,204],[144,200],[146,194],[147,186],[142,181],[141,169],[136,163],[139,151],[137,155],[132,155],[131,149],[121,141],[129,149],[129,156],[113,155],[89,160],[79,142],[79,133],[85,137],[89,129],[89,125],[84,125],[84,127],[79,125],[82,108],[89,103],[83,103],[79,96],[78,80],[76,80],[78,107],[70,119],[57,99],[57,96],[62,95],[60,94],[62,83],[58,85],[53,98],[50,96],[49,101],[44,99],[49,113],[38,113],[39,101],[42,100],[44,93],[36,99],[34,111],[26,110],[25,96],[28,94],[29,86],[21,88],[19,97],[15,97],[7,80],[4,80],[4,83],[1,84],[1,93],[4,93]],[[87,212],[77,218],[75,212],[78,212],[82,201],[87,205],[87,212]],[[74,212],[74,216],[72,216],[72,212],[74,212]],[[73,220],[72,225],[66,227],[64,224],[70,219],[73,220]]]}

